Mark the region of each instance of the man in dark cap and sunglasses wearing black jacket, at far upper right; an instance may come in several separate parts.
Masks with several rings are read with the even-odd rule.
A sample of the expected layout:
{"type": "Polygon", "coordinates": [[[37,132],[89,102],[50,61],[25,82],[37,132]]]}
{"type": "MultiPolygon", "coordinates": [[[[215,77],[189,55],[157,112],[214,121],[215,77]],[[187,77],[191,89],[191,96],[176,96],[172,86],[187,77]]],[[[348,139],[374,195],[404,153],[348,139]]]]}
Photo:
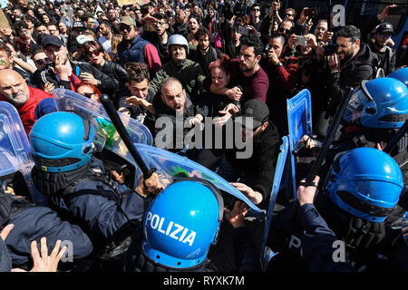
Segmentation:
{"type": "Polygon", "coordinates": [[[391,36],[393,36],[393,25],[384,22],[377,27],[374,43],[368,41],[372,52],[378,55],[380,61],[378,67],[384,70],[384,75],[393,73],[395,70],[395,50],[386,45],[391,36]]]}

